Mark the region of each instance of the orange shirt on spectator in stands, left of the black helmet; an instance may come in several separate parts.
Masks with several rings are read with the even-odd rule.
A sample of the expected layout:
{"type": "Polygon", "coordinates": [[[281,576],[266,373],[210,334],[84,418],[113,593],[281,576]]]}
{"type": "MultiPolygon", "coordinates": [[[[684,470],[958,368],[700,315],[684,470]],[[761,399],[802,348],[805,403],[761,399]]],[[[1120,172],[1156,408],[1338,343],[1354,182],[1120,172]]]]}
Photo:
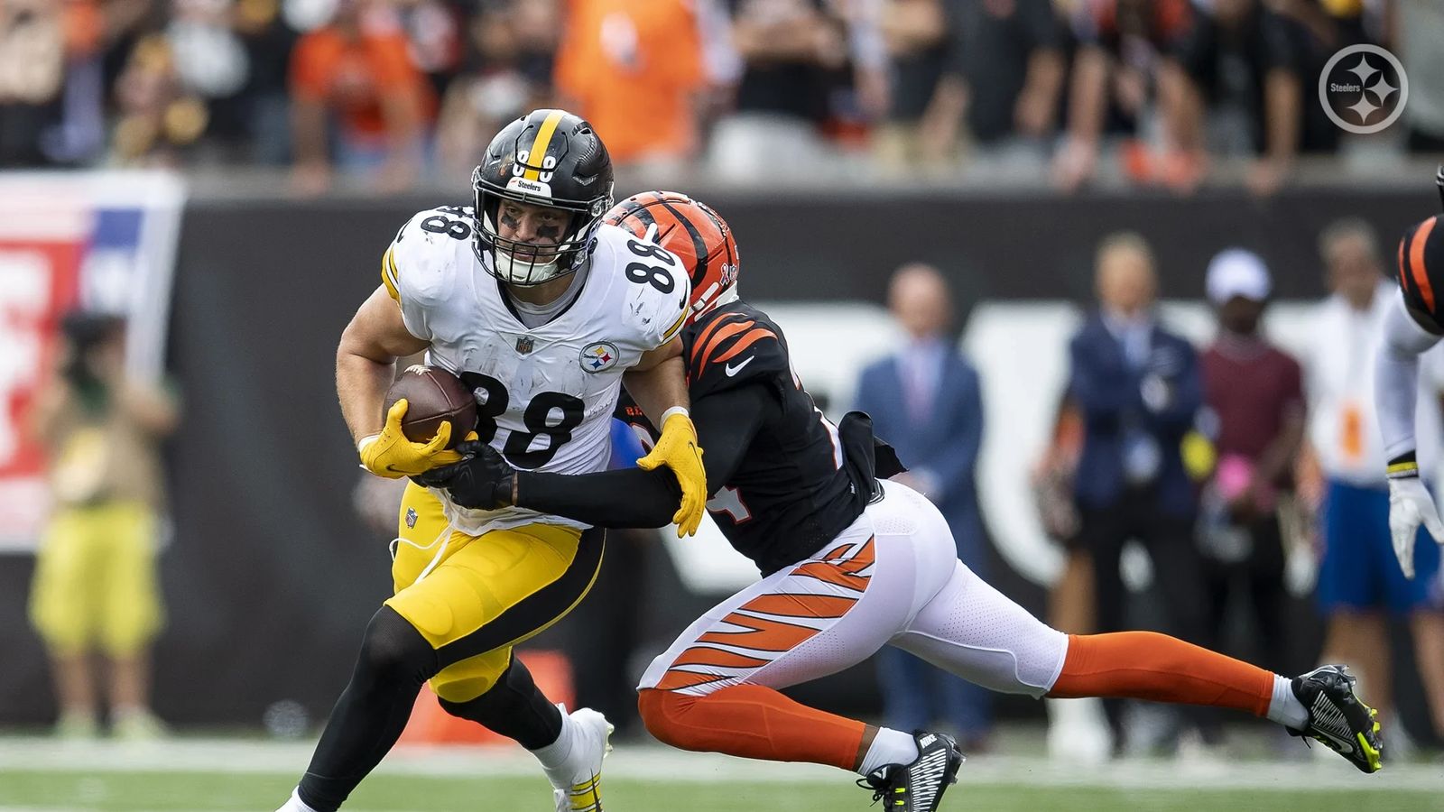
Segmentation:
{"type": "Polygon", "coordinates": [[[381,100],[387,95],[419,100],[422,121],[436,113],[432,87],[412,62],[400,30],[362,30],[351,38],[326,26],[308,33],[292,53],[290,91],[339,111],[345,129],[360,136],[386,133],[381,100]]]}

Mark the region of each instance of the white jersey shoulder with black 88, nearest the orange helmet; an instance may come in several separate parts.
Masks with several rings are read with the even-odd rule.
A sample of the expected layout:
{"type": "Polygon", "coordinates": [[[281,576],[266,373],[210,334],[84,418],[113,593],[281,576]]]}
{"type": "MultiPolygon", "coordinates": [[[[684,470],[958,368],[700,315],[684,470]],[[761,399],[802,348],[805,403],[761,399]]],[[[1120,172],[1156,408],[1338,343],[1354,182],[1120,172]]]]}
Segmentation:
{"type": "Polygon", "coordinates": [[[692,282],[682,260],[661,246],[643,240],[625,228],[601,225],[593,269],[618,277],[624,321],[637,331],[640,344],[656,350],[676,338],[687,324],[692,282]]]}

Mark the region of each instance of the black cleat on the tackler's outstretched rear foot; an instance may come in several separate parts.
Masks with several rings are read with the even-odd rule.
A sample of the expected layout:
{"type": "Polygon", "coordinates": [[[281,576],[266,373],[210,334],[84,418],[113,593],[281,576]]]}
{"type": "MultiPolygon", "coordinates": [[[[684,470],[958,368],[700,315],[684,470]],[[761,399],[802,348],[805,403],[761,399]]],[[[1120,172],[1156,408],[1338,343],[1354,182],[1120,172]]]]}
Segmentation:
{"type": "Polygon", "coordinates": [[[1288,733],[1323,741],[1362,772],[1376,773],[1383,751],[1379,711],[1354,696],[1354,682],[1356,678],[1344,666],[1320,666],[1295,676],[1294,696],[1308,709],[1308,725],[1304,730],[1288,728],[1288,733]]]}

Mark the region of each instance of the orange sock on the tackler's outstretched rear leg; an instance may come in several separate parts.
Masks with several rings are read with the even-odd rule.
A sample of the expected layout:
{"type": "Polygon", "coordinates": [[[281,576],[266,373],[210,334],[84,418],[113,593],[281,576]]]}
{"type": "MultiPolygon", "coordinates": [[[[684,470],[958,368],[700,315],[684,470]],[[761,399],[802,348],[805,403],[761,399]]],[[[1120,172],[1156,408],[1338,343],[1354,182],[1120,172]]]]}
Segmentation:
{"type": "Polygon", "coordinates": [[[1116,696],[1268,714],[1274,673],[1154,631],[1069,634],[1048,696],[1116,696]]]}

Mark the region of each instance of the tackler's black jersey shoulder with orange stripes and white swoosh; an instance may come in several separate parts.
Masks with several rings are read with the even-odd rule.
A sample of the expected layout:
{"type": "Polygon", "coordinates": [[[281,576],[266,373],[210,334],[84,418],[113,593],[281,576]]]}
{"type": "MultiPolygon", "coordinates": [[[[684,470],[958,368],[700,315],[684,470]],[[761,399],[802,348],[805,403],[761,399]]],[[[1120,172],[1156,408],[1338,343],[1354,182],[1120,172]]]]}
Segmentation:
{"type": "Polygon", "coordinates": [[[745,381],[791,379],[781,329],[748,309],[705,315],[686,331],[683,353],[693,400],[745,381]]]}

